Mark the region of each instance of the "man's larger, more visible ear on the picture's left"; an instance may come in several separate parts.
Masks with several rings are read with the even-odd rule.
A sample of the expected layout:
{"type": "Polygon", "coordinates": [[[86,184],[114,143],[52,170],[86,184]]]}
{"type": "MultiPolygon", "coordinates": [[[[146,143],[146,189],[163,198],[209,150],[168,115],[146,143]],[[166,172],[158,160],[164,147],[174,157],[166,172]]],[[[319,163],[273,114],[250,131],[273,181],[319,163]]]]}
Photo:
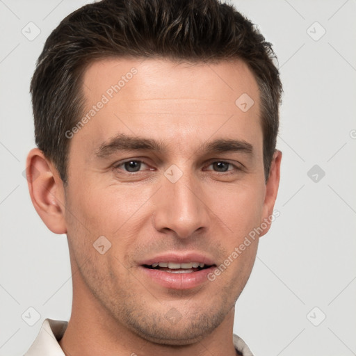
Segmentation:
{"type": "Polygon", "coordinates": [[[33,207],[44,224],[55,234],[67,233],[63,181],[38,148],[27,156],[26,177],[33,207]]]}

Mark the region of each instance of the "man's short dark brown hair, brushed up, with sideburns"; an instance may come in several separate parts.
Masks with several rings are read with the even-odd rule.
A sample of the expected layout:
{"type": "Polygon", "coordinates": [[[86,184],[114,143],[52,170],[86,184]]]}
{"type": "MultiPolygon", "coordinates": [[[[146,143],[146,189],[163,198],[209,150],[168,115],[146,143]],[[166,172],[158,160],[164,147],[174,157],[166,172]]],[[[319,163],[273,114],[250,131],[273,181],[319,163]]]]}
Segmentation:
{"type": "Polygon", "coordinates": [[[112,56],[192,63],[243,60],[261,94],[268,178],[282,83],[272,46],[254,24],[218,0],[103,0],[60,22],[44,44],[31,81],[35,141],[65,184],[70,143],[65,132],[83,114],[83,72],[94,60],[112,56]]]}

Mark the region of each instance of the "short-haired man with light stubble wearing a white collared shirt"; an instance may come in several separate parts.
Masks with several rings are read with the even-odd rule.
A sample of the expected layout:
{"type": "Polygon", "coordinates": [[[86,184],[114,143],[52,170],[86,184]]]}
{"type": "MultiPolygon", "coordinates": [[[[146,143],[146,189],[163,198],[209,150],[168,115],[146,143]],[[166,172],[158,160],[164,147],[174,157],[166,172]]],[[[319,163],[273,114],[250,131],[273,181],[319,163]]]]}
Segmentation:
{"type": "Polygon", "coordinates": [[[252,355],[234,305],[275,216],[272,56],[215,0],[104,0],[51,33],[27,175],[73,303],[27,356],[252,355]]]}

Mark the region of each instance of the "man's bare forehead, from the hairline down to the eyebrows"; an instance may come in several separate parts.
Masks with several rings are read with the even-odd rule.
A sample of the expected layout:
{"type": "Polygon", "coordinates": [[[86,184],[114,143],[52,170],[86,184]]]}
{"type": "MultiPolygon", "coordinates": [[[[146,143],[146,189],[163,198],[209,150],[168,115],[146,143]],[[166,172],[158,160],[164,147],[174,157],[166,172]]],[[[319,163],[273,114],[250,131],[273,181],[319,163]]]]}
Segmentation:
{"type": "Polygon", "coordinates": [[[84,115],[76,138],[99,144],[119,132],[184,145],[213,135],[251,142],[261,133],[259,89],[240,60],[177,63],[162,58],[106,58],[83,76],[84,115]],[[242,98],[242,99],[240,99],[242,98]],[[248,106],[241,110],[239,104],[248,106]]]}

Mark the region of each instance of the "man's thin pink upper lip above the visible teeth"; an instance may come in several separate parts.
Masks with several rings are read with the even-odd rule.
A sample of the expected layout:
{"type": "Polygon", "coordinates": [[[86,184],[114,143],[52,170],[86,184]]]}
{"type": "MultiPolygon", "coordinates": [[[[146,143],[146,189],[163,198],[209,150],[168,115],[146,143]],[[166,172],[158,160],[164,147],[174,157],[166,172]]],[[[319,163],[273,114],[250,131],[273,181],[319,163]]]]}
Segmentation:
{"type": "Polygon", "coordinates": [[[199,262],[200,264],[213,265],[213,259],[199,252],[166,252],[164,254],[156,254],[154,257],[140,261],[140,265],[151,266],[159,262],[175,262],[176,264],[187,264],[189,262],[199,262]]]}

